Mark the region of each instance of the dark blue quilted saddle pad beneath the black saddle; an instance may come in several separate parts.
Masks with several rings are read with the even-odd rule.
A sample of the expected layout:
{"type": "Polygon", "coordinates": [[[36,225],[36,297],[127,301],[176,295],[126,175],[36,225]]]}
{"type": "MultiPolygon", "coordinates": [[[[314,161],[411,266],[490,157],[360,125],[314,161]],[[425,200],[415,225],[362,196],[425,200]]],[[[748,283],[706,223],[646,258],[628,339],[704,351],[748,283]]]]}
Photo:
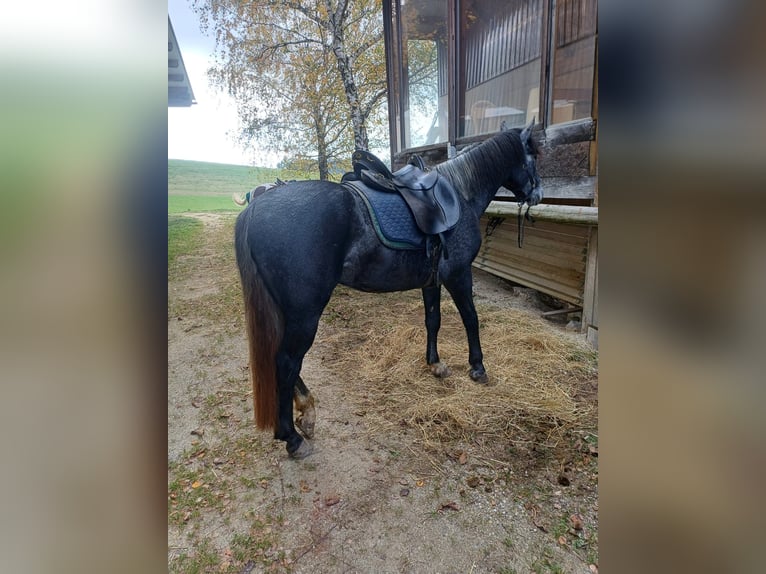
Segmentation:
{"type": "Polygon", "coordinates": [[[360,181],[342,185],[362,198],[380,241],[390,249],[423,249],[426,236],[418,229],[412,211],[398,193],[371,189],[360,181]]]}

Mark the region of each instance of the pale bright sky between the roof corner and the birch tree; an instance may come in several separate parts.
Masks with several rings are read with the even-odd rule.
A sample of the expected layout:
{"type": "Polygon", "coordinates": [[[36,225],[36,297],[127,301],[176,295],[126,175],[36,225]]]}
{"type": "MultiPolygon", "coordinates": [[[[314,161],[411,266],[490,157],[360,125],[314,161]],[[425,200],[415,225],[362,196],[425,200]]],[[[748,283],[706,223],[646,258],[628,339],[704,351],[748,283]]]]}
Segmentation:
{"type": "Polygon", "coordinates": [[[239,129],[234,100],[210,86],[215,39],[200,31],[190,0],[168,0],[168,15],[194,91],[190,108],[168,108],[168,158],[274,167],[279,156],[246,150],[236,141],[239,129]]]}

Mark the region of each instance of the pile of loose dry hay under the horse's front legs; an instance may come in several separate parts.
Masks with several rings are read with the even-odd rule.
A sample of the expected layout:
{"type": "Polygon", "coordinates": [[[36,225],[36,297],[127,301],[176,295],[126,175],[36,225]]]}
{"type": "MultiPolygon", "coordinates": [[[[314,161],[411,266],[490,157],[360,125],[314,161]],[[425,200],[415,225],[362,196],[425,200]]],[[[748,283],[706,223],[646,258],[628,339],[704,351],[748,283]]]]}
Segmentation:
{"type": "Polygon", "coordinates": [[[439,333],[439,355],[452,370],[446,379],[425,364],[417,292],[341,291],[329,309],[336,321],[325,338],[333,348],[326,360],[374,429],[417,428],[426,444],[482,436],[550,445],[567,430],[595,427],[594,394],[577,397],[578,389],[593,388],[595,353],[529,313],[478,309],[490,377],[482,386],[468,376],[468,343],[448,295],[439,333]]]}

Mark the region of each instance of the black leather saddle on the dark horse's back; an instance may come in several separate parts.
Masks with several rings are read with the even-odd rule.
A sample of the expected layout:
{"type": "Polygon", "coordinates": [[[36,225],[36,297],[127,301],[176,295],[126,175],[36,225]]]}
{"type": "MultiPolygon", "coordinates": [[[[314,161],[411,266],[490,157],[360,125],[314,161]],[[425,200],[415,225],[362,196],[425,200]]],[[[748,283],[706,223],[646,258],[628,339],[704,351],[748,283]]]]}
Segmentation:
{"type": "Polygon", "coordinates": [[[351,161],[354,171],[346,173],[341,183],[362,182],[378,191],[398,193],[426,235],[452,229],[460,219],[460,200],[455,188],[437,172],[425,171],[418,156],[394,173],[365,150],[356,150],[351,161]]]}

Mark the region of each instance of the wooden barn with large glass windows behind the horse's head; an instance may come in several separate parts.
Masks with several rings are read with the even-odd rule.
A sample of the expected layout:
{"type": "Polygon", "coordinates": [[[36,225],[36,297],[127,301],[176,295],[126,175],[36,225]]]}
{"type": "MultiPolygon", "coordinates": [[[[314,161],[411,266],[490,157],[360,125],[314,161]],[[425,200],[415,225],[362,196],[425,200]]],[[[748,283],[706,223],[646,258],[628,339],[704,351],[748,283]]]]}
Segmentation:
{"type": "Polygon", "coordinates": [[[597,0],[383,0],[391,163],[434,165],[500,129],[542,127],[545,199],[518,246],[506,190],[474,265],[581,311],[598,345],[597,0]]]}

